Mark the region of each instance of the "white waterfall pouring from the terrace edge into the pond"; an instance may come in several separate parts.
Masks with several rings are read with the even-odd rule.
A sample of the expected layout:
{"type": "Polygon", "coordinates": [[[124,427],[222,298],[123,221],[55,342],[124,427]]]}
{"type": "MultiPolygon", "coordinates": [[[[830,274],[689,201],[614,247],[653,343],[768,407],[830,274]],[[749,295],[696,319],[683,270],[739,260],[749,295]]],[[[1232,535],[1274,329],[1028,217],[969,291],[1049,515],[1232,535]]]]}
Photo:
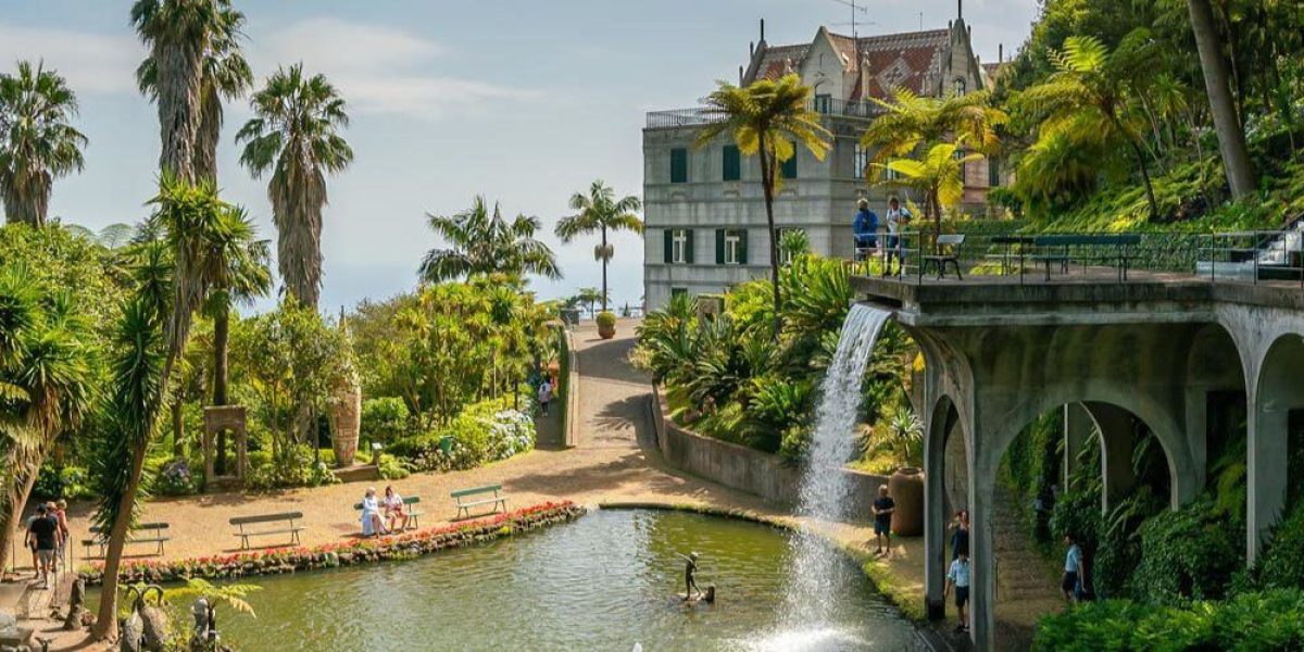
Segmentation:
{"type": "MultiPolygon", "coordinates": [[[[837,352],[820,387],[808,466],[802,476],[798,514],[808,522],[837,523],[845,516],[850,486],[841,471],[855,450],[861,378],[888,317],[891,313],[857,304],[842,322],[837,352]]],[[[806,526],[793,539],[792,565],[785,629],[808,632],[812,640],[803,645],[807,649],[842,647],[827,635],[829,614],[836,609],[831,604],[836,595],[832,588],[845,580],[845,558],[806,526]]]]}

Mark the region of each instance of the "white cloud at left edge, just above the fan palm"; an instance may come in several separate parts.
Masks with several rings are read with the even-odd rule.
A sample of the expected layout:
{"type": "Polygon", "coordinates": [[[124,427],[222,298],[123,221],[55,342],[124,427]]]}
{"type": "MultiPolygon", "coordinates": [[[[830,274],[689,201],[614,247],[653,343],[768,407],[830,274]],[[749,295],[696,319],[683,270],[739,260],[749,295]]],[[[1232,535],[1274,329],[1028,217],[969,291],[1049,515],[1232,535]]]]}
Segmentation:
{"type": "Polygon", "coordinates": [[[145,47],[130,35],[104,35],[0,22],[0,70],[20,59],[46,61],[78,94],[136,93],[145,47]]]}

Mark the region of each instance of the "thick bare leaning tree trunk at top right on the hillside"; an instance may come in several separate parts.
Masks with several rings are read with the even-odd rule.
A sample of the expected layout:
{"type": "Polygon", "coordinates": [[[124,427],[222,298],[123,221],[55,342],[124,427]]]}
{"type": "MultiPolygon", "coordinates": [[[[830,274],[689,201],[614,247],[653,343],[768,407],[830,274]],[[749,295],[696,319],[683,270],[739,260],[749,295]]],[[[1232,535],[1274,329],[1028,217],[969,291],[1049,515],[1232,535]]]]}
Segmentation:
{"type": "MultiPolygon", "coordinates": [[[[1227,86],[1227,63],[1222,56],[1222,39],[1214,27],[1214,13],[1209,0],[1187,0],[1187,7],[1191,9],[1191,27],[1194,30],[1196,46],[1200,50],[1200,68],[1204,70],[1205,91],[1209,94],[1209,108],[1213,110],[1214,130],[1218,133],[1218,149],[1222,153],[1227,185],[1231,186],[1232,198],[1239,200],[1254,192],[1254,168],[1245,146],[1245,132],[1241,129],[1231,89],[1227,86]]],[[[1154,198],[1150,201],[1153,205],[1154,198]]]]}

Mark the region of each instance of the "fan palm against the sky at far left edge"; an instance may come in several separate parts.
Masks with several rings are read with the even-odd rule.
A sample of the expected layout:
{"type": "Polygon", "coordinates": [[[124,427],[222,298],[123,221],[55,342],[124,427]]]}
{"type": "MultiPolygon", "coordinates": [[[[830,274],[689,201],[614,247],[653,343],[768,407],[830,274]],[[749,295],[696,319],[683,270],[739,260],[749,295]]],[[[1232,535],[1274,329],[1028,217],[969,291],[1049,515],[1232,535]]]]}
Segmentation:
{"type": "Polygon", "coordinates": [[[0,198],[9,222],[43,226],[55,179],[85,163],[86,137],[70,120],[77,95],[42,64],[0,74],[0,198]]]}

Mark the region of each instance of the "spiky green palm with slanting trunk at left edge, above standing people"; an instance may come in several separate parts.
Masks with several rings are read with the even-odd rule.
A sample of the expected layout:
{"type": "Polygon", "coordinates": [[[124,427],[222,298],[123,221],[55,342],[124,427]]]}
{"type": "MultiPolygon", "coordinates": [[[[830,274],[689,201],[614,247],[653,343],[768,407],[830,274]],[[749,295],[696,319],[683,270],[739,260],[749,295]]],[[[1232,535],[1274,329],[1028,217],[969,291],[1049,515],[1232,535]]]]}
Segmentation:
{"type": "Polygon", "coordinates": [[[68,295],[42,292],[30,270],[0,274],[0,558],[55,438],[91,403],[90,326],[68,295]]]}

